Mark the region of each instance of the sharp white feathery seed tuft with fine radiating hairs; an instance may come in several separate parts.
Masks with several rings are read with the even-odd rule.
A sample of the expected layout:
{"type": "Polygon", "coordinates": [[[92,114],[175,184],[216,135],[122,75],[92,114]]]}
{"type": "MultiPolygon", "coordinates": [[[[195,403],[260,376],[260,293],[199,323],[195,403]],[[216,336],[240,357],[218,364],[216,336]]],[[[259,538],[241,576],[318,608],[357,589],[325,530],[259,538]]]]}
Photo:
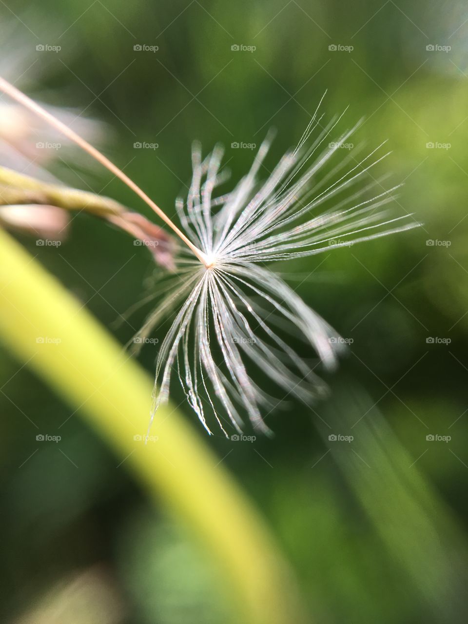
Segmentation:
{"type": "Polygon", "coordinates": [[[329,324],[263,265],[419,225],[411,215],[389,213],[397,187],[364,199],[371,188],[383,188],[382,179],[369,175],[387,155],[379,155],[383,144],[359,160],[358,147],[316,180],[337,151],[343,154],[341,145],[355,130],[329,142],[342,116],[322,125],[317,109],[298,147],[259,183],[271,142],[267,137],[247,175],[232,192],[217,198],[215,188],[225,181],[220,171],[223,150],[217,146],[202,158],[200,145],[194,145],[188,197],[177,200],[176,206],[184,232],[205,253],[209,266],[182,255],[177,280],[139,334],[148,336],[178,309],[158,353],[154,411],[167,401],[175,375],[208,432],[208,417],[213,416],[225,435],[227,422],[240,431],[245,416],[256,430],[268,432],[262,413],[278,401],[253,381],[251,367],[260,369],[260,377],[269,378],[270,386],[283,396],[294,394],[310,402],[324,394],[326,386],[313,370],[316,364],[291,348],[285,331],[299,334],[328,369],[336,364],[341,341],[333,339],[337,334],[329,324]],[[364,177],[370,182],[359,185],[364,177]],[[325,202],[333,207],[321,211],[325,202]]]}

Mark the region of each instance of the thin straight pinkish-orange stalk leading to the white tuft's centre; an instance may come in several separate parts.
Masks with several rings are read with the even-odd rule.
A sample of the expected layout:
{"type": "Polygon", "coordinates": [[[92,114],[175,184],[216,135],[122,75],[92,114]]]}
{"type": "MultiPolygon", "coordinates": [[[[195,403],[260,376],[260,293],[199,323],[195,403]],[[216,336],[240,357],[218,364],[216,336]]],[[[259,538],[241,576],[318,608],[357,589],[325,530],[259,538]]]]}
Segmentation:
{"type": "Polygon", "coordinates": [[[81,149],[83,149],[90,156],[95,158],[95,160],[100,162],[101,165],[104,165],[104,167],[109,169],[110,172],[114,173],[114,175],[117,178],[120,178],[120,180],[122,180],[122,182],[124,182],[127,185],[127,187],[131,188],[132,191],[134,191],[134,193],[136,193],[139,197],[141,197],[142,200],[144,200],[144,202],[146,202],[149,205],[149,207],[154,210],[154,212],[158,215],[158,217],[162,218],[162,220],[165,223],[167,223],[167,225],[170,228],[172,228],[172,230],[177,234],[177,236],[179,236],[179,238],[183,240],[183,242],[188,246],[188,248],[190,248],[190,250],[193,251],[193,253],[195,254],[195,256],[197,256],[200,262],[202,262],[205,266],[208,265],[207,257],[205,256],[203,251],[201,251],[200,249],[198,249],[198,247],[193,245],[193,243],[190,240],[188,240],[187,236],[185,236],[185,234],[181,230],[179,230],[177,225],[175,225],[175,223],[173,223],[170,220],[170,218],[166,215],[166,213],[163,212],[163,210],[161,210],[161,208],[158,207],[154,203],[154,201],[150,197],[148,197],[148,195],[137,184],[135,184],[133,180],[130,180],[130,178],[127,175],[125,175],[125,173],[121,169],[119,169],[117,165],[114,165],[114,163],[111,162],[109,158],[106,158],[104,154],[101,154],[99,150],[95,149],[95,147],[93,147],[87,141],[82,139],[82,137],[76,134],[76,132],[74,132],[66,124],[61,122],[59,119],[56,119],[54,115],[47,112],[47,110],[43,109],[41,105],[34,102],[34,100],[32,100],[30,97],[27,97],[27,95],[22,93],[19,89],[14,87],[12,84],[10,84],[7,80],[2,78],[1,76],[0,76],[0,90],[2,90],[4,93],[9,95],[9,97],[14,99],[19,104],[22,104],[27,109],[34,112],[36,115],[39,115],[39,117],[42,117],[42,119],[46,120],[48,124],[51,124],[52,127],[59,130],[59,132],[62,132],[62,134],[64,134],[68,139],[70,139],[71,141],[79,145],[81,149]]]}

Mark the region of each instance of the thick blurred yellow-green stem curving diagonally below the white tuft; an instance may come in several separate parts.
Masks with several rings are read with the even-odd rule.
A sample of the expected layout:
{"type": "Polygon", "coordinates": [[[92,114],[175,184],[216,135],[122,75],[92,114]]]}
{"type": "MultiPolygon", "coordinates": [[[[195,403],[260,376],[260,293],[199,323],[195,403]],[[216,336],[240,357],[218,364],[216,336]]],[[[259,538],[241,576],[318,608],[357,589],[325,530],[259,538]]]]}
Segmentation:
{"type": "Polygon", "coordinates": [[[215,454],[171,406],[149,422],[152,381],[80,303],[0,230],[0,338],[87,418],[217,562],[239,622],[303,622],[270,532],[215,454]],[[60,343],[37,338],[59,338],[60,343]]]}

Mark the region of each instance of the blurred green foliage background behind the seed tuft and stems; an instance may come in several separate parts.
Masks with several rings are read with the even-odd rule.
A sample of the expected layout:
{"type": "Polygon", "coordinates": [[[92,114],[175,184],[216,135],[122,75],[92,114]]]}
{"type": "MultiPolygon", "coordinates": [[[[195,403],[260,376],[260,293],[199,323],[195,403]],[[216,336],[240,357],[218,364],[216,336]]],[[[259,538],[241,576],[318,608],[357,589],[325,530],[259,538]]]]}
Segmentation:
{"type": "MultiPolygon", "coordinates": [[[[404,182],[396,213],[422,227],[276,266],[350,343],[329,399],[289,396],[268,415],[273,439],[207,443],[275,534],[310,622],[466,621],[464,4],[5,0],[0,19],[3,75],[100,120],[95,142],[170,213],[194,139],[222,142],[236,180],[253,150],[232,144],[259,145],[275,127],[266,177],[326,89],[329,114],[364,117],[356,142],[389,140],[383,185],[404,182]]],[[[150,216],[86,158],[57,150],[47,168],[150,216]]],[[[154,288],[147,250],[84,214],[59,248],[20,238],[122,344],[132,337],[148,310],[120,315],[154,288]]],[[[140,355],[149,371],[155,348],[140,355]]],[[[2,621],[229,622],[208,558],[79,413],[7,351],[0,379],[2,621]],[[30,419],[60,446],[37,442],[30,419]]]]}

